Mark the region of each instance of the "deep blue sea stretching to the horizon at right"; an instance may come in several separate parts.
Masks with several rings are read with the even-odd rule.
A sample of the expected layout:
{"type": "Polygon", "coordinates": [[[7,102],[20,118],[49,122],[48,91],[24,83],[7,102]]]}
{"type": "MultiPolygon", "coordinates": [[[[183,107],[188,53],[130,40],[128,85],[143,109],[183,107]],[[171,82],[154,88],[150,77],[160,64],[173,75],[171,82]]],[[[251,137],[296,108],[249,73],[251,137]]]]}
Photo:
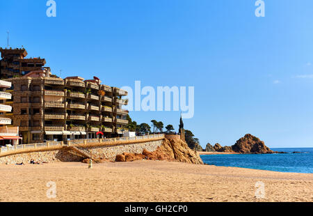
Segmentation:
{"type": "Polygon", "coordinates": [[[271,171],[313,173],[313,148],[271,148],[287,154],[200,155],[205,164],[271,171]],[[300,153],[293,153],[300,152],[300,153]]]}

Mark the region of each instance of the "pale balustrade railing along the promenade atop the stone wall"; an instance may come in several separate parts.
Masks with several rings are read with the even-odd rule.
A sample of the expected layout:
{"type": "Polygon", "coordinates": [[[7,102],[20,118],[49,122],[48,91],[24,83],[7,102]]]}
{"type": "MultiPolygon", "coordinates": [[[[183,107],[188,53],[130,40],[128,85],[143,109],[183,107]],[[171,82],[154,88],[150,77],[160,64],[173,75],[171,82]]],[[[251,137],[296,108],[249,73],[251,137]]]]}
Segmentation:
{"type": "Polygon", "coordinates": [[[146,136],[139,137],[116,137],[116,138],[106,138],[106,139],[74,139],[68,140],[66,142],[63,141],[47,141],[45,143],[38,144],[21,144],[17,146],[3,146],[0,148],[0,157],[2,155],[9,155],[10,153],[23,153],[29,151],[48,151],[49,149],[54,148],[62,148],[63,146],[80,146],[80,145],[88,145],[88,146],[99,146],[106,144],[114,144],[119,142],[119,144],[127,144],[133,141],[143,141],[151,139],[163,139],[164,134],[151,134],[146,136]]]}

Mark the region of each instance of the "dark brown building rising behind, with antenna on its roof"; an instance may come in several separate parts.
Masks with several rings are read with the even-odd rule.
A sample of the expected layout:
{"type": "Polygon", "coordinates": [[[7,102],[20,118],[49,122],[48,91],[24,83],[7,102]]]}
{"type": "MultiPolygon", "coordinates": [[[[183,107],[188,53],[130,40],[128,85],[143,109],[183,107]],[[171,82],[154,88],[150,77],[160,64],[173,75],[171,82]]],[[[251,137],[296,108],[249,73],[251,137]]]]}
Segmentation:
{"type": "Polygon", "coordinates": [[[33,70],[40,70],[46,61],[45,59],[29,58],[26,49],[2,49],[0,47],[0,78],[13,78],[26,75],[33,70]]]}

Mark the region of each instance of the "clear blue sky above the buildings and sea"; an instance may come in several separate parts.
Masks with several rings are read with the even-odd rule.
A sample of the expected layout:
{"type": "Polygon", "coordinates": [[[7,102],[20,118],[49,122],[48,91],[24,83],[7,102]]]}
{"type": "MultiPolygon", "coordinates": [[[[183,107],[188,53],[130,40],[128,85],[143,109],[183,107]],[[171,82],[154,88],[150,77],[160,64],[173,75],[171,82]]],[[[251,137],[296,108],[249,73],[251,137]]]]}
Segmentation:
{"type": "MultiPolygon", "coordinates": [[[[246,133],[270,147],[313,147],[313,1],[0,0],[0,47],[24,47],[61,77],[111,86],[195,86],[185,119],[204,147],[246,133]]],[[[179,111],[132,111],[178,128],[179,111]]]]}

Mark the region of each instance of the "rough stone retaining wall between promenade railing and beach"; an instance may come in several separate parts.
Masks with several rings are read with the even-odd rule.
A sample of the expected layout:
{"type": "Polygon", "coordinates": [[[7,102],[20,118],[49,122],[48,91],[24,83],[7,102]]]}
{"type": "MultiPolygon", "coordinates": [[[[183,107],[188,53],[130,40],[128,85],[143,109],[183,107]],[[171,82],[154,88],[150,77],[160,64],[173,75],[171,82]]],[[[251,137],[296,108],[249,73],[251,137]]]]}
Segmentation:
{"type": "MultiPolygon", "coordinates": [[[[149,141],[139,144],[125,144],[116,146],[97,146],[90,147],[88,151],[93,153],[95,157],[102,159],[115,160],[116,155],[122,153],[143,153],[143,149],[147,151],[155,151],[159,146],[161,146],[163,140],[159,141],[149,141]]],[[[85,151],[83,148],[78,147],[81,151],[85,151]]],[[[42,151],[35,153],[22,153],[19,155],[10,155],[6,157],[0,157],[0,164],[16,164],[22,163],[29,164],[31,160],[36,162],[80,162],[83,160],[82,157],[77,155],[72,155],[67,151],[54,150],[54,151],[42,151]]]]}

